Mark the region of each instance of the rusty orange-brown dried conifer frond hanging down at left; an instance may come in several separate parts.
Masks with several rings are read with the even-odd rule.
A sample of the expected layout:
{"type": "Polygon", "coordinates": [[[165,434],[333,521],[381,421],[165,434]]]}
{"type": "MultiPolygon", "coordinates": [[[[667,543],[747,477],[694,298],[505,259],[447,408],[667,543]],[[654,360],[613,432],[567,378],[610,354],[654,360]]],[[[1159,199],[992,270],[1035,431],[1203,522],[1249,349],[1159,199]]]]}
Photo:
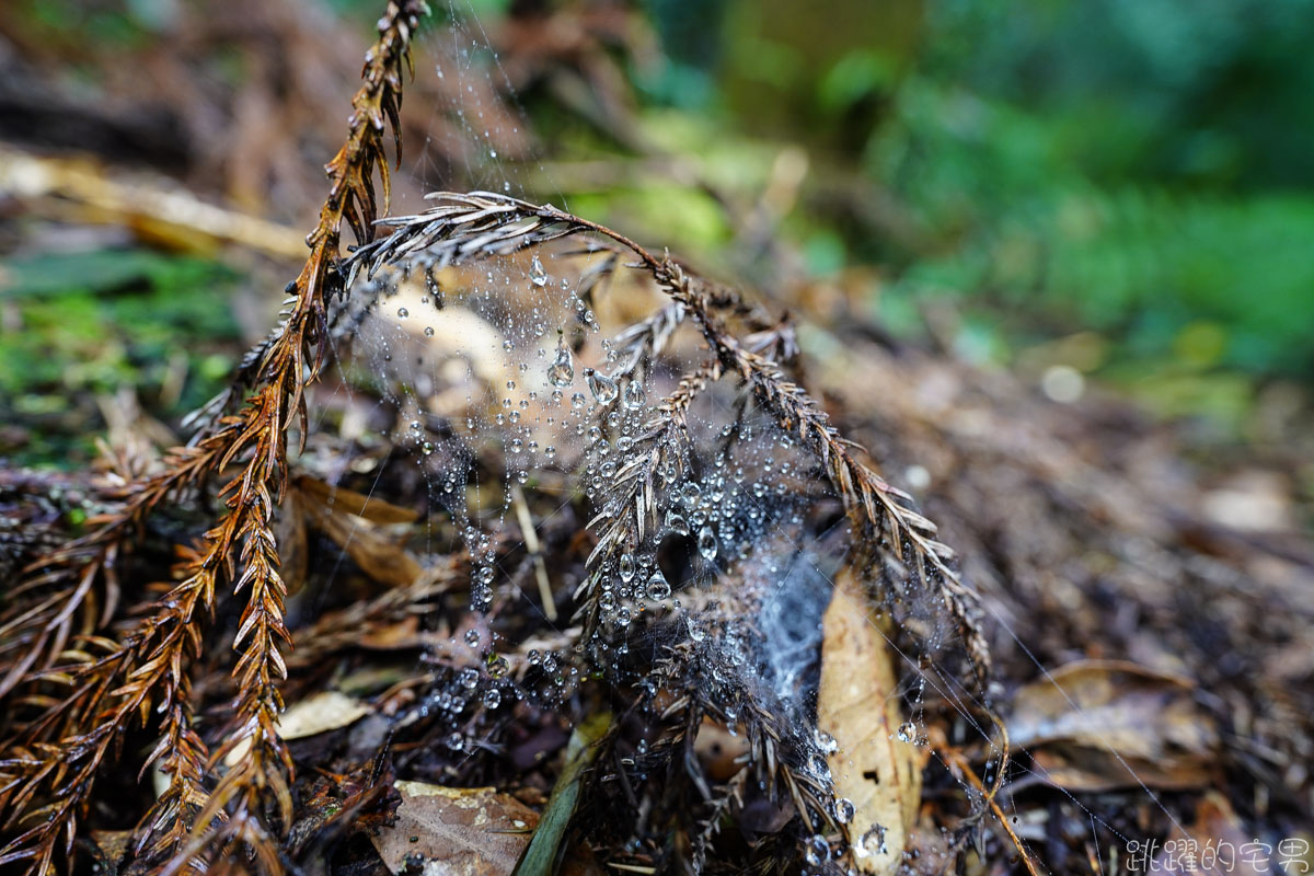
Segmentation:
{"type": "MultiPolygon", "coordinates": [[[[272,833],[264,826],[264,806],[271,799],[277,802],[277,821],[283,829],[289,826],[292,759],[277,735],[283,707],[277,686],[286,674],[283,650],[290,645],[290,634],[284,625],[285,594],[271,520],[286,482],[286,433],[300,420],[305,439],[305,386],[323,364],[328,302],[342,292],[342,223],[351,226],[357,242],[371,238],[378,211],[376,171],[386,209],[390,184],[384,134],[392,123],[399,160],[402,74],[410,66],[410,37],[427,12],[422,0],[402,0],[390,3],[380,20],[380,39],[367,55],[364,84],[352,101],[347,142],[326,168],[330,192],[306,239],[310,256],[288,286],[293,303],[258,348],[259,359],[238,374],[240,385],[254,389],[246,406],[212,420],[196,447],[176,450],[162,474],[130,490],[122,510],[96,521],[89,536],[33,569],[16,588],[20,595],[49,594],[57,586],[35,604],[20,600],[3,619],[4,640],[21,654],[8,661],[0,695],[50,683],[72,691],[30,720],[26,733],[0,760],[5,830],[21,830],[0,848],[0,863],[28,862],[29,872],[54,872],[57,855],[71,852],[99,767],[116,754],[134,718],[139,714],[145,720],[154,709],[164,720],[163,742],[151,760],[159,759],[171,784],[145,823],[135,844],[138,854],[151,859],[173,855],[175,869],[191,865],[198,850],[193,848],[196,841],[188,839],[191,851],[184,851],[184,838],[225,816],[215,842],[243,843],[267,868],[280,869],[272,833]],[[113,615],[114,562],[145,519],[166,498],[239,458],[244,461],[238,474],[221,491],[226,514],[205,535],[183,583],[121,642],[105,642],[108,654],[88,654],[74,666],[49,668],[64,650],[78,615],[88,633],[113,615]],[[238,569],[240,574],[235,574],[238,569]],[[102,600],[106,611],[97,617],[88,605],[95,604],[89,596],[100,579],[108,583],[108,596],[102,600]],[[198,615],[213,607],[214,588],[222,582],[234,582],[237,592],[247,592],[247,609],[234,644],[243,649],[234,670],[239,690],[235,728],[215,756],[238,746],[246,746],[248,755],[206,793],[205,775],[214,758],[206,756],[191,729],[185,666],[198,650],[198,615]],[[33,826],[21,829],[29,823],[33,826]]],[[[214,410],[215,416],[222,412],[222,405],[214,410]]]]}

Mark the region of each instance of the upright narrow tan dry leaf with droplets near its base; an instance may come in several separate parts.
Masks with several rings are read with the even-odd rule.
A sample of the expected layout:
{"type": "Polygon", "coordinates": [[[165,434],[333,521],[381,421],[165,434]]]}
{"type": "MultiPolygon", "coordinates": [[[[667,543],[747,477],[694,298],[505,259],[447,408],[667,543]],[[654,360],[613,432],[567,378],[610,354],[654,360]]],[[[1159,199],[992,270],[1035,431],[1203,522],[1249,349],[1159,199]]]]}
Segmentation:
{"type": "Polygon", "coordinates": [[[917,818],[925,754],[900,739],[890,650],[851,571],[836,579],[823,625],[817,728],[838,746],[830,775],[836,797],[853,802],[853,863],[866,873],[895,873],[917,818]]]}

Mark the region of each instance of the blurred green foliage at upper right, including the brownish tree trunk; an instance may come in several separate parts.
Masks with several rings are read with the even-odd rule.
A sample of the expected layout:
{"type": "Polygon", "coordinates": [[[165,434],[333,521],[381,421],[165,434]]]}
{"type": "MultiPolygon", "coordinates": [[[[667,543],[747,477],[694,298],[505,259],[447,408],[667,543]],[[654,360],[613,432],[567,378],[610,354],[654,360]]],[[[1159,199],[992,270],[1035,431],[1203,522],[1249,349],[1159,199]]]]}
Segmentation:
{"type": "Polygon", "coordinates": [[[1314,377],[1314,0],[649,9],[675,71],[653,104],[892,200],[895,222],[813,204],[787,232],[816,273],[878,265],[896,327],[947,298],[961,349],[1001,361],[1093,330],[1085,369],[1175,414],[1314,377]],[[673,42],[694,26],[720,51],[673,42]]]}

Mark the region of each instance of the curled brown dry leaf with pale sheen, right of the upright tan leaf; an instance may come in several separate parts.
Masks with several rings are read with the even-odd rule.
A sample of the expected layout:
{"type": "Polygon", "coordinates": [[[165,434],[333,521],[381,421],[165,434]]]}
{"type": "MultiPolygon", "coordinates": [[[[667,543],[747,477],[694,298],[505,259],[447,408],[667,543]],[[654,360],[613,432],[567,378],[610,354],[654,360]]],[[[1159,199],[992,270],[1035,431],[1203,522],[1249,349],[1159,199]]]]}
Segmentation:
{"type": "Polygon", "coordinates": [[[1135,663],[1068,663],[1017,692],[1008,741],[1072,791],[1201,787],[1218,732],[1193,691],[1189,679],[1135,663]]]}

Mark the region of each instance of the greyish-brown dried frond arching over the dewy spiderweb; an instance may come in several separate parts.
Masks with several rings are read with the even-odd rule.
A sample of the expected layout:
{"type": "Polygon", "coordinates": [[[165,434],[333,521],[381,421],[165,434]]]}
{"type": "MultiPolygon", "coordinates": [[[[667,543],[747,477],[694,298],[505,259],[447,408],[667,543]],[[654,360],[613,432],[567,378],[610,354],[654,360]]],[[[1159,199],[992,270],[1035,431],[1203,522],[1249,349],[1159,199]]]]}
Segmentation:
{"type": "MultiPolygon", "coordinates": [[[[988,671],[989,653],[980,630],[976,596],[951,567],[953,552],[936,538],[934,524],[909,507],[911,496],[886,483],[854,457],[855,445],[840,436],[815,399],[788,380],[775,361],[740,341],[727,328],[719,311],[744,310],[737,292],[691,273],[669,256],[658,259],[624,235],[552,205],[535,205],[493,192],[438,192],[427,197],[438,201],[439,206],[381,222],[394,230],[361,247],[351,257],[350,277],[363,268],[373,276],[384,265],[403,263],[422,253],[447,265],[476,257],[505,256],[566,236],[597,235],[611,244],[619,244],[637,259],[633,267],[645,271],[679,307],[658,313],[656,322],[639,327],[627,338],[629,343],[639,341],[637,349],[644,351],[645,344],[657,336],[656,330],[686,314],[691,317],[720,368],[725,373],[737,374],[778,424],[798,435],[802,444],[820,461],[827,478],[862,532],[859,544],[871,554],[870,561],[879,566],[880,573],[890,570],[895,577],[937,595],[958,625],[978,674],[988,671]]],[[[754,347],[758,349],[777,344],[788,351],[792,340],[770,334],[763,338],[761,332],[754,336],[754,347]]],[[[631,356],[625,361],[633,366],[640,360],[641,356],[631,356]]],[[[652,507],[650,486],[641,482],[637,489],[639,494],[633,499],[639,511],[633,516],[632,531],[627,532],[641,536],[652,507]]],[[[610,511],[615,512],[615,508],[610,511]]],[[[614,521],[603,532],[599,548],[606,545],[603,549],[611,550],[612,545],[623,541],[616,527],[618,523],[614,521]]],[[[590,566],[598,556],[599,552],[595,552],[590,566]]],[[[597,583],[599,578],[591,575],[589,580],[597,583]]],[[[597,594],[587,594],[587,599],[594,598],[597,594]]]]}

